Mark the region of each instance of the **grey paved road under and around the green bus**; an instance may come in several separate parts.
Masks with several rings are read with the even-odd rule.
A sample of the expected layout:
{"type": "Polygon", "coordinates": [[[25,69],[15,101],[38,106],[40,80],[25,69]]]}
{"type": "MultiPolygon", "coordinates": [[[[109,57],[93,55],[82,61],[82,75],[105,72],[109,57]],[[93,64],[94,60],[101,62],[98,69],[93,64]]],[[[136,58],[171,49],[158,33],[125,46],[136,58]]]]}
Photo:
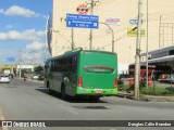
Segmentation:
{"type": "MultiPolygon", "coordinates": [[[[57,93],[48,94],[42,82],[20,79],[11,80],[10,84],[0,84],[0,109],[5,120],[174,120],[173,102],[137,102],[116,96],[101,98],[100,102],[89,102],[85,99],[62,101],[57,93]]],[[[77,128],[46,129],[76,130],[77,128]]],[[[117,128],[100,130],[102,129],[117,130],[117,128]]],[[[135,128],[129,129],[135,130],[135,128]]]]}

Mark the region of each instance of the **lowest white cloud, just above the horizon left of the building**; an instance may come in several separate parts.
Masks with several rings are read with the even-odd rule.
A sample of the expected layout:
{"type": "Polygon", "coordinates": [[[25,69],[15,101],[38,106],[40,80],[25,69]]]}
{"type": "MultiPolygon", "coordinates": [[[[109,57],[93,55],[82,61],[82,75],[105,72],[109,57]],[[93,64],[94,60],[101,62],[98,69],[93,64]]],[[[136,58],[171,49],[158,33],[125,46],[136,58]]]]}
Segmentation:
{"type": "MultiPolygon", "coordinates": [[[[21,58],[22,64],[44,64],[45,58],[50,57],[47,43],[34,41],[23,50],[18,49],[0,49],[0,62],[7,63],[8,57],[15,57],[15,62],[21,58]]],[[[14,62],[13,62],[14,63],[14,62]]]]}

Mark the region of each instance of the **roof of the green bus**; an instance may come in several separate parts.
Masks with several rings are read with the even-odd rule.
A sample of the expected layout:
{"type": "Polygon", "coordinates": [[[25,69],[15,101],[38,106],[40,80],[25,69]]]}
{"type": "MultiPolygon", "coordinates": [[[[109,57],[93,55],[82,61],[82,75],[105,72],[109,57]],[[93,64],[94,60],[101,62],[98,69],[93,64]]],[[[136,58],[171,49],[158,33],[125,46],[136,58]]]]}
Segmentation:
{"type": "Polygon", "coordinates": [[[62,55],[57,55],[57,56],[53,56],[53,57],[49,57],[47,61],[50,61],[50,60],[55,60],[55,58],[60,58],[60,57],[66,57],[66,56],[71,56],[71,55],[76,55],[80,52],[98,52],[98,53],[108,53],[108,54],[113,54],[113,55],[116,55],[116,53],[112,53],[112,52],[108,52],[108,51],[97,51],[97,50],[73,50],[73,51],[67,51],[65,52],[64,54],[62,55]]]}

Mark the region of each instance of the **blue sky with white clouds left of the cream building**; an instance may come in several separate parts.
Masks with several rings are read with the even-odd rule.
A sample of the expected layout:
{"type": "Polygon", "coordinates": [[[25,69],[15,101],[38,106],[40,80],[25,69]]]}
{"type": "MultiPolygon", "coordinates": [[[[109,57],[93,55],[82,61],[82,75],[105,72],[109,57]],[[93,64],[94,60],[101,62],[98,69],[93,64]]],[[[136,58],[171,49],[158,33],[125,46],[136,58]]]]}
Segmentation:
{"type": "Polygon", "coordinates": [[[49,56],[46,21],[52,0],[0,0],[0,64],[39,63],[49,56]]]}

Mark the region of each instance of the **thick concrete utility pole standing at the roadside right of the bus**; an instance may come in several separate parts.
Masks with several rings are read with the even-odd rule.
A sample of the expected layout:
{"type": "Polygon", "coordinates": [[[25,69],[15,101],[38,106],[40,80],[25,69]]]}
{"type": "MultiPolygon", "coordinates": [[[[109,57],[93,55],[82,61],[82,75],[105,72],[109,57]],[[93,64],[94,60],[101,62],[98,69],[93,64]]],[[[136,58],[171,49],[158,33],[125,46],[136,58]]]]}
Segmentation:
{"type": "Polygon", "coordinates": [[[140,70],[140,40],[141,40],[141,20],[142,20],[142,0],[138,2],[138,29],[136,40],[136,55],[135,55],[135,88],[134,96],[135,100],[139,100],[139,70],[140,70]]]}

